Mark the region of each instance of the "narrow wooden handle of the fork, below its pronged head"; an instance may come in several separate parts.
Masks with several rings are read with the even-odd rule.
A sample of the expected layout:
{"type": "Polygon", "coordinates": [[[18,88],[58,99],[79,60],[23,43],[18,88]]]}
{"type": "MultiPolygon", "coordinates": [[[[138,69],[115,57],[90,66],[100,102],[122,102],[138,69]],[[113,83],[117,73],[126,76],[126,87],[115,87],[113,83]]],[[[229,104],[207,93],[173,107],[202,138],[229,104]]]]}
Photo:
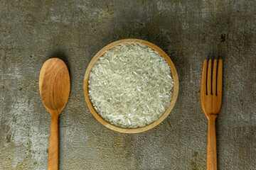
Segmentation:
{"type": "Polygon", "coordinates": [[[217,115],[208,117],[207,170],[217,170],[216,117],[217,115]]]}

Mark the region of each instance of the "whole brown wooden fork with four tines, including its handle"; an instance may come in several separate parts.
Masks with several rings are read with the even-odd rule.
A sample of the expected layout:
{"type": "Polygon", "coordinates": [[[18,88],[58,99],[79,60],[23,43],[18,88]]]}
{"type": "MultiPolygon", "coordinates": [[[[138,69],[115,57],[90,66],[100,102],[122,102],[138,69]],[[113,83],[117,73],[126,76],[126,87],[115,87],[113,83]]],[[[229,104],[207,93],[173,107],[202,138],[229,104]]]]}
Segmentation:
{"type": "Polygon", "coordinates": [[[215,119],[220,112],[222,81],[223,61],[218,61],[217,72],[217,60],[214,60],[212,72],[212,60],[208,62],[208,71],[207,60],[204,60],[201,77],[201,106],[203,113],[205,113],[206,118],[208,118],[207,170],[217,169],[215,119]]]}

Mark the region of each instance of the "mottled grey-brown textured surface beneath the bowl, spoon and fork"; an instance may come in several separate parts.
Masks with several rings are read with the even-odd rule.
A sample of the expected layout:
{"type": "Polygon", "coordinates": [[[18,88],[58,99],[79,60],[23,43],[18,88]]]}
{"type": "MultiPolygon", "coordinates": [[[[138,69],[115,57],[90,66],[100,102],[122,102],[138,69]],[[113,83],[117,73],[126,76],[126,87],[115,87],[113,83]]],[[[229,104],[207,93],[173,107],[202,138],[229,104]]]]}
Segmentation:
{"type": "Polygon", "coordinates": [[[256,167],[256,1],[0,1],[0,169],[47,169],[50,114],[38,77],[50,57],[70,69],[60,115],[60,169],[206,169],[207,120],[200,105],[203,59],[222,57],[218,168],[256,167]],[[159,45],[176,65],[174,110],[156,128],[122,134],[85,103],[85,69],[122,38],[159,45]]]}

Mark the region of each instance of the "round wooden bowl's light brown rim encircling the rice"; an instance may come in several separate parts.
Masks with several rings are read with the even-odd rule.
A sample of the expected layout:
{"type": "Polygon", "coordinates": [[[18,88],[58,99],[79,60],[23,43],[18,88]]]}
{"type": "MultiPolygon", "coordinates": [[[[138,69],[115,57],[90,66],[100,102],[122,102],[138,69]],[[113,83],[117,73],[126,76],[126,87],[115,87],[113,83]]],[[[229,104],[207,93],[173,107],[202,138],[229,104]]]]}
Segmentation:
{"type": "Polygon", "coordinates": [[[85,79],[84,79],[84,87],[83,88],[84,88],[84,94],[85,94],[85,101],[87,103],[88,108],[92,112],[92,115],[94,115],[95,118],[100,123],[102,123],[102,125],[105,125],[105,127],[110,128],[112,130],[115,130],[117,132],[124,132],[124,133],[144,132],[146,130],[154,128],[156,125],[159,125],[159,123],[161,123],[167,117],[167,115],[169,115],[169,113],[171,112],[172,108],[174,108],[174,104],[175,104],[177,96],[178,96],[178,74],[177,74],[176,69],[174,67],[174,63],[171,62],[171,59],[169,58],[169,56],[166,55],[166,53],[163,50],[161,50],[159,47],[157,47],[156,45],[152,44],[151,42],[148,42],[148,41],[145,41],[145,40],[139,40],[139,39],[117,40],[117,41],[112,42],[109,45],[103,47],[102,50],[97,52],[95,57],[92,58],[90,64],[88,65],[88,67],[86,69],[86,72],[85,72],[85,79]],[[169,107],[166,108],[166,111],[164,111],[164,113],[161,115],[161,117],[158,120],[154,121],[153,123],[150,123],[149,125],[146,125],[144,127],[139,127],[139,128],[120,128],[120,127],[117,127],[115,125],[110,124],[109,122],[107,122],[105,119],[103,119],[95,111],[95,108],[92,106],[92,102],[90,101],[90,98],[88,96],[88,80],[89,80],[89,75],[90,75],[90,72],[91,72],[92,67],[95,64],[95,62],[97,62],[97,60],[102,55],[104,55],[107,50],[110,50],[110,49],[112,49],[113,47],[115,47],[117,45],[122,45],[122,44],[126,44],[126,43],[139,43],[139,44],[145,45],[146,47],[151,47],[152,49],[154,49],[157,52],[159,52],[159,54],[162,57],[164,57],[166,62],[169,64],[169,66],[171,68],[171,76],[174,79],[173,96],[171,97],[171,102],[169,104],[169,107]]]}

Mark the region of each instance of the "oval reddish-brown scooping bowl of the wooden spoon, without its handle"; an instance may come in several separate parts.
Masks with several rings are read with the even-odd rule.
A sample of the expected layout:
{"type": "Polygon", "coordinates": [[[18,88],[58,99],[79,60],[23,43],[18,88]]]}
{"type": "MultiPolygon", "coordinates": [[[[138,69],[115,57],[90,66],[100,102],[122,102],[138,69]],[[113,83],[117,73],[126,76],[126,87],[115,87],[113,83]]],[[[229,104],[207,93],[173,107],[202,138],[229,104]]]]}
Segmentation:
{"type": "Polygon", "coordinates": [[[52,58],[43,64],[39,89],[43,104],[50,113],[63,110],[70,93],[70,76],[62,60],[52,58]]]}

